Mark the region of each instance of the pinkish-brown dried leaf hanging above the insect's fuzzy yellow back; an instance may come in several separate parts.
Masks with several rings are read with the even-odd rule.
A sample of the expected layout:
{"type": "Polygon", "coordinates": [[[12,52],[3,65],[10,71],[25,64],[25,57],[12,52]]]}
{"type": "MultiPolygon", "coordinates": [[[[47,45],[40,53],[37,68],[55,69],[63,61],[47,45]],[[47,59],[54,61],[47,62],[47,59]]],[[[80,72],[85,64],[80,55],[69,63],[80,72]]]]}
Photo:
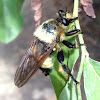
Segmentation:
{"type": "Polygon", "coordinates": [[[32,10],[35,11],[34,20],[36,21],[35,27],[40,25],[42,17],[42,0],[31,0],[32,10]]]}

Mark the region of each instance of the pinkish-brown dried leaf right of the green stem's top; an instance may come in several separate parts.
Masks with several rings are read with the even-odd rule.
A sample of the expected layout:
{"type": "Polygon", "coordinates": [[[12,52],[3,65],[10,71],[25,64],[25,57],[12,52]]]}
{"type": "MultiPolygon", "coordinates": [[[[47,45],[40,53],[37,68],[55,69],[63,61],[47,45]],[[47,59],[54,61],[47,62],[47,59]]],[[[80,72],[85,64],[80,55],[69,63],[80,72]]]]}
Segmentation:
{"type": "Polygon", "coordinates": [[[92,18],[96,18],[96,15],[94,13],[93,9],[93,0],[80,0],[80,3],[83,5],[83,9],[86,12],[86,14],[92,18]]]}

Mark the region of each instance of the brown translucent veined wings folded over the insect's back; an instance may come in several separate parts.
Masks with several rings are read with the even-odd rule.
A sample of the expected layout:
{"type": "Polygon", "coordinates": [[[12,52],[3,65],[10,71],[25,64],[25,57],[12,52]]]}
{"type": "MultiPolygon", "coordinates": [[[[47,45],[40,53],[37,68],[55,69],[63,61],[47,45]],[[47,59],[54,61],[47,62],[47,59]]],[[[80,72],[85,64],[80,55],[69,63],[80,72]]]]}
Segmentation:
{"type": "Polygon", "coordinates": [[[52,52],[56,42],[47,44],[33,37],[33,42],[22,59],[15,73],[14,82],[18,87],[23,86],[30,77],[39,69],[47,56],[52,52]]]}

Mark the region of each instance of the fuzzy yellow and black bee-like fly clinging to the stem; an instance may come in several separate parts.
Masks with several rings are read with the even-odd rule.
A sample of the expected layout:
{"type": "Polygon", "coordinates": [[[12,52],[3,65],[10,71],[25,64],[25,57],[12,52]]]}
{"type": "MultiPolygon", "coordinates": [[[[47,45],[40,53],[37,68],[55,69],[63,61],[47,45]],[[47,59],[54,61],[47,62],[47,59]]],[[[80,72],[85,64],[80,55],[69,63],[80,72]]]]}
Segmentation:
{"type": "Polygon", "coordinates": [[[62,42],[68,48],[77,48],[77,44],[72,44],[64,40],[66,36],[75,36],[80,33],[79,29],[66,33],[68,26],[77,19],[78,17],[69,17],[67,12],[59,10],[57,19],[49,19],[38,26],[33,34],[33,41],[27,49],[25,56],[22,58],[20,66],[16,70],[14,78],[16,86],[22,87],[39,68],[44,69],[43,71],[46,71],[47,73],[45,74],[47,75],[53,66],[50,54],[54,48],[58,51],[57,59],[62,65],[63,70],[78,84],[71,74],[71,71],[63,63],[64,54],[59,43],[62,42]]]}

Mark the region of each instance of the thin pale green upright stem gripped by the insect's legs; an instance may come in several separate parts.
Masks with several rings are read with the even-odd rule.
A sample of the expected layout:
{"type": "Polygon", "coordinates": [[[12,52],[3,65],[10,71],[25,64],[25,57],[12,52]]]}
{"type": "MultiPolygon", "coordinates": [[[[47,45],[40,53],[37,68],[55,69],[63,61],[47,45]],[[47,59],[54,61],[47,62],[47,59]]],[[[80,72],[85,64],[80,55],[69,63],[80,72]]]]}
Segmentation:
{"type": "MultiPolygon", "coordinates": [[[[74,0],[74,9],[73,9],[73,16],[74,17],[77,17],[78,16],[78,6],[79,6],[79,0],[74,0]]],[[[75,22],[75,24],[76,24],[76,28],[77,29],[81,29],[80,28],[80,24],[79,24],[79,20],[77,20],[75,22]]],[[[79,38],[80,44],[84,44],[83,35],[82,34],[79,34],[78,35],[78,38],[79,38]]],[[[81,80],[84,59],[85,59],[85,55],[87,53],[88,52],[86,51],[86,47],[85,46],[81,46],[81,62],[80,62],[80,67],[79,67],[79,71],[78,71],[78,75],[77,75],[77,81],[79,81],[79,82],[81,80]]],[[[77,91],[78,91],[78,100],[82,100],[80,85],[78,85],[77,91]]]]}

